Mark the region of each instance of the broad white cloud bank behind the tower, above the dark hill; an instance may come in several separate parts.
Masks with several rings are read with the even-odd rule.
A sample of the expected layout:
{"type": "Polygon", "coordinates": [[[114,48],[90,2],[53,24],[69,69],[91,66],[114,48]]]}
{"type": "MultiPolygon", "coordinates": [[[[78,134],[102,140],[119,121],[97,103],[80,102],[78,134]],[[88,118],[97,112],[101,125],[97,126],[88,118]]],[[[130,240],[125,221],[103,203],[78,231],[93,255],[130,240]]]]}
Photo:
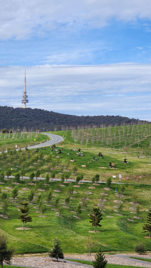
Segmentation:
{"type": "MultiPolygon", "coordinates": [[[[121,115],[151,121],[150,69],[150,64],[132,63],[27,66],[27,106],[68,114],[121,115]]],[[[22,107],[24,67],[0,70],[0,105],[22,107]]]]}

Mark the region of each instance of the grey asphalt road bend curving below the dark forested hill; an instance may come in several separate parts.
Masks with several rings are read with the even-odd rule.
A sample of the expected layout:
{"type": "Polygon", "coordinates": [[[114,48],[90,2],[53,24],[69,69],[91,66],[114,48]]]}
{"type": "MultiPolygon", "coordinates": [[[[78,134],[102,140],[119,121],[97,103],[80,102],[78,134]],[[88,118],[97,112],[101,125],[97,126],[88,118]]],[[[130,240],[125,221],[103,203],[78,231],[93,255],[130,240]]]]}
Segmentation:
{"type": "MultiPolygon", "coordinates": [[[[32,146],[28,146],[27,147],[28,149],[35,149],[35,148],[40,148],[40,147],[51,146],[53,144],[60,143],[60,142],[62,142],[64,140],[63,137],[61,137],[59,135],[56,135],[56,134],[43,133],[43,132],[40,132],[40,134],[43,134],[43,135],[51,137],[51,140],[48,140],[47,142],[42,142],[41,144],[35,144],[35,145],[32,145],[32,146]]],[[[21,148],[21,150],[24,150],[24,149],[25,149],[25,147],[21,148]]]]}

